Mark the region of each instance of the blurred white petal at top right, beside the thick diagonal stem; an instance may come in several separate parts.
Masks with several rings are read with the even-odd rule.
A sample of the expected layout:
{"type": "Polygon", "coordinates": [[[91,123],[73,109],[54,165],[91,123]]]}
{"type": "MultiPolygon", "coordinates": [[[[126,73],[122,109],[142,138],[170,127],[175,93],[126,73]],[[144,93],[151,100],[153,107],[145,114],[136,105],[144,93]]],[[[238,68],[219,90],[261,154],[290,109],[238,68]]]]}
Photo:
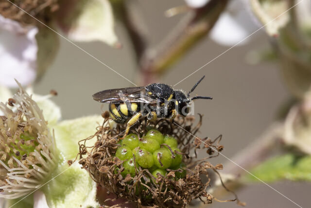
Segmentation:
{"type": "Polygon", "coordinates": [[[249,41],[246,37],[259,28],[255,21],[243,0],[233,0],[217,20],[209,37],[225,46],[232,46],[240,41],[239,45],[245,44],[249,41]]]}

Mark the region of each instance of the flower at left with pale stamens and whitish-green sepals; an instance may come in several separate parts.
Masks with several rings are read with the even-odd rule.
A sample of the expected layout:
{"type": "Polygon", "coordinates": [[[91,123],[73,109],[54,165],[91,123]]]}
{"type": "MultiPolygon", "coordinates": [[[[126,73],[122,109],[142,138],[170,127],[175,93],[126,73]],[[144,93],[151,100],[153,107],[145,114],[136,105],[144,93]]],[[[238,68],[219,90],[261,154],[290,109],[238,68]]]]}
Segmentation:
{"type": "Polygon", "coordinates": [[[8,206],[18,202],[17,207],[29,207],[32,195],[20,197],[35,190],[34,208],[98,207],[96,183],[77,162],[69,167],[67,161],[74,160],[78,141],[94,134],[103,118],[59,122],[60,109],[50,96],[29,95],[20,86],[11,100],[14,107],[8,106],[7,97],[6,104],[0,103],[5,115],[0,117],[0,204],[7,198],[16,199],[7,201],[8,206]]]}

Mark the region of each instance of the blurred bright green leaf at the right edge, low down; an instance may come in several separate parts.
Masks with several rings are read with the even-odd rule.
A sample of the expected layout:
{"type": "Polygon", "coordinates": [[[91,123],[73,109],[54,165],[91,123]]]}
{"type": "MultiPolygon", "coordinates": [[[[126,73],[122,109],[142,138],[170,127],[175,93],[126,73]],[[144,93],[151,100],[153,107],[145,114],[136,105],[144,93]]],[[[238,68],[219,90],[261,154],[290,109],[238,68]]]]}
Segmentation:
{"type": "MultiPolygon", "coordinates": [[[[297,156],[285,154],[269,159],[251,171],[256,177],[265,182],[279,180],[311,181],[311,156],[297,156]]],[[[247,174],[247,181],[258,181],[254,176],[247,174]]]]}

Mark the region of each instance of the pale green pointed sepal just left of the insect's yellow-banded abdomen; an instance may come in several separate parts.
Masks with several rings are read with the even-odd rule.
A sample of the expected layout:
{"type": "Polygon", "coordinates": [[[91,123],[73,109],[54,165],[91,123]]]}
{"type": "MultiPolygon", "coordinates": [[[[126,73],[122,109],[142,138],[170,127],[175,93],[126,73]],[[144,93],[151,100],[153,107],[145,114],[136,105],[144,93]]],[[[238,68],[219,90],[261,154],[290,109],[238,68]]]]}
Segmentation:
{"type": "MultiPolygon", "coordinates": [[[[103,122],[100,115],[86,116],[72,120],[62,121],[52,126],[55,132],[56,146],[62,152],[66,160],[72,160],[79,151],[78,141],[93,135],[96,127],[103,122]]],[[[96,138],[86,142],[87,146],[93,146],[96,138]]]]}

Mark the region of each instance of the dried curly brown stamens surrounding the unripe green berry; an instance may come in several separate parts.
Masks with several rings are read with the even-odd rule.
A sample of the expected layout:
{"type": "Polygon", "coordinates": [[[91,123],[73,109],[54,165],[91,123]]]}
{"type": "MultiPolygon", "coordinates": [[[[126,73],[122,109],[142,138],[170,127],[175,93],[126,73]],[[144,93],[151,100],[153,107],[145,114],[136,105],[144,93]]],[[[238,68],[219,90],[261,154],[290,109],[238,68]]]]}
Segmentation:
{"type": "MultiPolygon", "coordinates": [[[[115,206],[134,203],[137,207],[187,207],[193,199],[199,198],[204,203],[211,203],[215,199],[207,192],[208,187],[211,186],[210,174],[216,172],[217,176],[220,176],[217,170],[223,169],[223,166],[221,164],[213,166],[207,160],[219,155],[223,146],[219,145],[221,136],[215,140],[208,137],[198,139],[193,136],[202,125],[201,115],[196,125],[192,116],[178,115],[173,122],[165,118],[156,121],[147,121],[146,118],[141,118],[137,124],[131,127],[130,133],[138,135],[140,139],[150,129],[156,129],[164,135],[173,136],[177,139],[180,150],[175,153],[183,155],[182,163],[185,164],[185,168],[174,170],[167,168],[153,174],[152,168],[135,165],[135,173],[127,175],[124,175],[124,170],[127,168],[124,165],[127,164],[127,160],[121,160],[116,156],[116,151],[122,144],[120,138],[125,132],[126,126],[117,124],[111,128],[109,126],[110,118],[103,117],[104,123],[97,128],[97,132],[79,142],[79,163],[89,172],[95,182],[108,189],[109,192],[115,193],[118,198],[126,199],[126,202],[123,203],[117,202],[117,198],[106,199],[106,202],[109,201],[111,204],[115,201],[115,206]],[[95,145],[86,147],[86,141],[93,138],[97,139],[95,145]],[[201,148],[207,149],[207,157],[197,159],[197,149],[201,148]],[[217,154],[211,148],[217,150],[217,154]],[[193,154],[192,157],[190,153],[193,154]],[[165,175],[162,175],[161,172],[165,175]],[[183,175],[183,173],[186,174],[183,175]],[[206,183],[202,182],[202,176],[207,177],[206,183]]],[[[172,151],[171,148],[168,149],[172,151]]],[[[126,151],[124,152],[126,153],[126,151]]],[[[134,164],[137,164],[137,157],[134,153],[133,160],[134,164]]],[[[162,165],[159,157],[158,161],[162,165]]],[[[158,165],[158,167],[161,166],[158,165]]],[[[225,201],[235,200],[237,199],[225,201]]]]}

